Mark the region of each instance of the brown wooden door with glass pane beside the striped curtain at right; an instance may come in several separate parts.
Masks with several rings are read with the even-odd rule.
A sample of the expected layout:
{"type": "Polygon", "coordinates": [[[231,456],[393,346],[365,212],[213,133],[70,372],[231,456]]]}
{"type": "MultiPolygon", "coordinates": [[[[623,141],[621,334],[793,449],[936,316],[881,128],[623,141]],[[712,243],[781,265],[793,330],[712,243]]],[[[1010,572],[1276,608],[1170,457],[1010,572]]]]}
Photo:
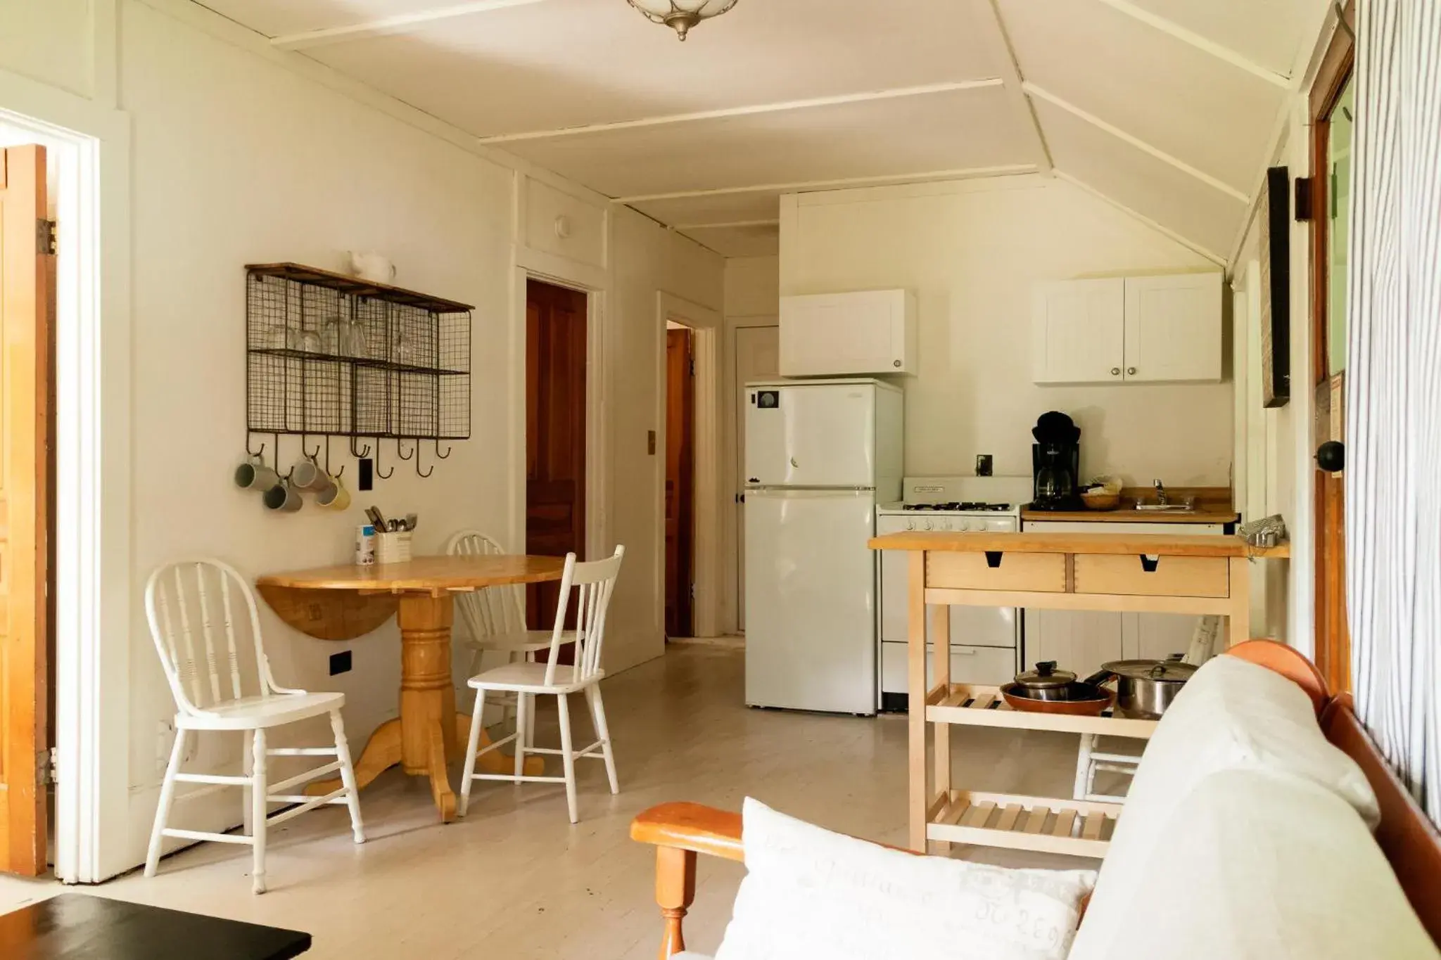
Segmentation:
{"type": "MultiPolygon", "coordinates": [[[[1355,23],[1352,9],[1347,16],[1355,23]]],[[[1349,691],[1346,628],[1346,263],[1352,102],[1350,35],[1337,30],[1311,89],[1311,377],[1316,397],[1316,665],[1349,691]]]]}

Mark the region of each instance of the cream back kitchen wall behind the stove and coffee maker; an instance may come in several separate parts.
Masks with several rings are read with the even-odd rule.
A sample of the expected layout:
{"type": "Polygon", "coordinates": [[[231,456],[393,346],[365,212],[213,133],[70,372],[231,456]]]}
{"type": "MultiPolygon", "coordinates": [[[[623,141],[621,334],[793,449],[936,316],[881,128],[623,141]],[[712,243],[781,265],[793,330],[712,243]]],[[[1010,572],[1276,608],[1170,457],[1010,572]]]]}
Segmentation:
{"type": "Polygon", "coordinates": [[[1038,282],[1215,269],[1061,180],[1007,177],[788,196],[781,294],[905,286],[919,301],[921,371],[906,390],[906,474],[1030,474],[1030,427],[1062,410],[1081,472],[1131,484],[1229,485],[1231,384],[1036,386],[1038,282]]]}

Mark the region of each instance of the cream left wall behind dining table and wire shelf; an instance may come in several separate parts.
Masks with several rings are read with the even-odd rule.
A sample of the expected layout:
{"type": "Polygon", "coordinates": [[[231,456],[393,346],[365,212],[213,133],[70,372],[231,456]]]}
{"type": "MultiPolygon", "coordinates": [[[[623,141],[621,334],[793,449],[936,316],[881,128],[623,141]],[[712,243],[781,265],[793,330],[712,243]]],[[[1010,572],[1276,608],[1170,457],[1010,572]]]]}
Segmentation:
{"type": "MultiPolygon", "coordinates": [[[[105,640],[127,648],[115,658],[125,666],[107,681],[118,691],[111,701],[118,707],[104,718],[110,728],[128,727],[128,789],[117,803],[104,800],[124,809],[101,812],[99,866],[85,877],[99,878],[143,858],[160,780],[160,725],[174,711],[138,603],[150,570],[186,556],[218,556],[252,576],[344,561],[360,505],[369,502],[386,512],[418,512],[419,551],[437,550],[458,527],[523,530],[525,462],[513,443],[525,432],[523,404],[514,403],[525,376],[523,321],[512,302],[520,259],[516,181],[549,178],[601,210],[610,204],[477,148],[460,131],[305,58],[277,55],[256,35],[184,0],[66,1],[46,4],[43,16],[39,4],[22,6],[26,12],[7,19],[0,40],[0,89],[40,89],[33,102],[62,105],[69,101],[45,91],[68,91],[79,95],[75,102],[118,107],[131,125],[131,229],[124,246],[108,252],[117,253],[114,262],[133,263],[124,284],[133,289],[134,321],[128,350],[122,343],[107,347],[107,357],[130,358],[133,456],[101,465],[117,484],[124,474],[133,486],[125,518],[131,548],[111,567],[125,581],[120,592],[130,594],[128,633],[105,640]],[[52,47],[69,59],[36,55],[52,47]],[[293,517],[269,515],[231,482],[245,442],[242,266],[298,261],[336,268],[344,249],[382,250],[396,262],[399,284],[476,304],[471,439],[455,443],[428,479],[396,462],[388,445],[382,458],[386,469],[395,466],[393,478],[379,481],[373,494],[354,494],[346,514],[307,507],[293,517]]],[[[45,112],[35,115],[65,119],[45,112]]],[[[644,446],[646,430],[657,427],[654,370],[663,354],[656,294],[673,291],[719,308],[722,262],[638,214],[620,212],[610,223],[610,262],[592,271],[607,302],[592,376],[614,386],[614,396],[602,420],[610,442],[595,446],[611,453],[604,489],[621,494],[612,495],[608,543],[591,547],[630,548],[611,613],[607,666],[614,671],[663,651],[663,577],[648,545],[661,497],[644,446]]],[[[548,262],[563,273],[562,259],[548,262]]],[[[300,445],[281,445],[285,468],[300,445]]],[[[356,468],[340,450],[334,443],[352,481],[356,468]]],[[[431,462],[431,453],[422,456],[431,462]]],[[[607,510],[604,502],[592,507],[607,510]]],[[[327,643],[285,628],[264,606],[262,616],[282,682],[346,692],[354,748],[395,715],[393,623],[352,643],[327,643]],[[347,648],[353,671],[329,676],[329,655],[347,648]]],[[[197,769],[233,771],[238,763],[238,738],[208,738],[196,759],[197,769]]],[[[114,784],[102,787],[114,796],[114,784]]],[[[232,790],[192,803],[186,816],[197,828],[231,826],[239,809],[232,790]]]]}

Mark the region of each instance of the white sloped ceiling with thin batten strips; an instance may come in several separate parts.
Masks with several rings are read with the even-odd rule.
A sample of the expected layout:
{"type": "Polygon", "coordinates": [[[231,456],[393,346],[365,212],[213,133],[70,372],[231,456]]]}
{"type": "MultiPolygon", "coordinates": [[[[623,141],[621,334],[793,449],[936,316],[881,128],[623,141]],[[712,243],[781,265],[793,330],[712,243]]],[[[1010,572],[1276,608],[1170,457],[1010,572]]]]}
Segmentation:
{"type": "Polygon", "coordinates": [[[778,197],[1039,170],[1225,261],[1327,0],[197,0],[728,256],[778,197]]]}

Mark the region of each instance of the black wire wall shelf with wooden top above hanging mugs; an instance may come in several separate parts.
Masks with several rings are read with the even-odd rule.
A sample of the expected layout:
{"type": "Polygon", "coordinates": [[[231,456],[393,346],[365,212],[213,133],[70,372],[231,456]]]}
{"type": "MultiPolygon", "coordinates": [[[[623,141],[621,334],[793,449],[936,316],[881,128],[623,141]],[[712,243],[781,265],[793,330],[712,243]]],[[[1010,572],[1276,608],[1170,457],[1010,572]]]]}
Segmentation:
{"type": "Polygon", "coordinates": [[[303,450],[342,436],[356,456],[395,440],[416,472],[421,440],[444,459],[470,438],[473,307],[298,263],[245,271],[248,435],[300,435],[303,450]]]}

